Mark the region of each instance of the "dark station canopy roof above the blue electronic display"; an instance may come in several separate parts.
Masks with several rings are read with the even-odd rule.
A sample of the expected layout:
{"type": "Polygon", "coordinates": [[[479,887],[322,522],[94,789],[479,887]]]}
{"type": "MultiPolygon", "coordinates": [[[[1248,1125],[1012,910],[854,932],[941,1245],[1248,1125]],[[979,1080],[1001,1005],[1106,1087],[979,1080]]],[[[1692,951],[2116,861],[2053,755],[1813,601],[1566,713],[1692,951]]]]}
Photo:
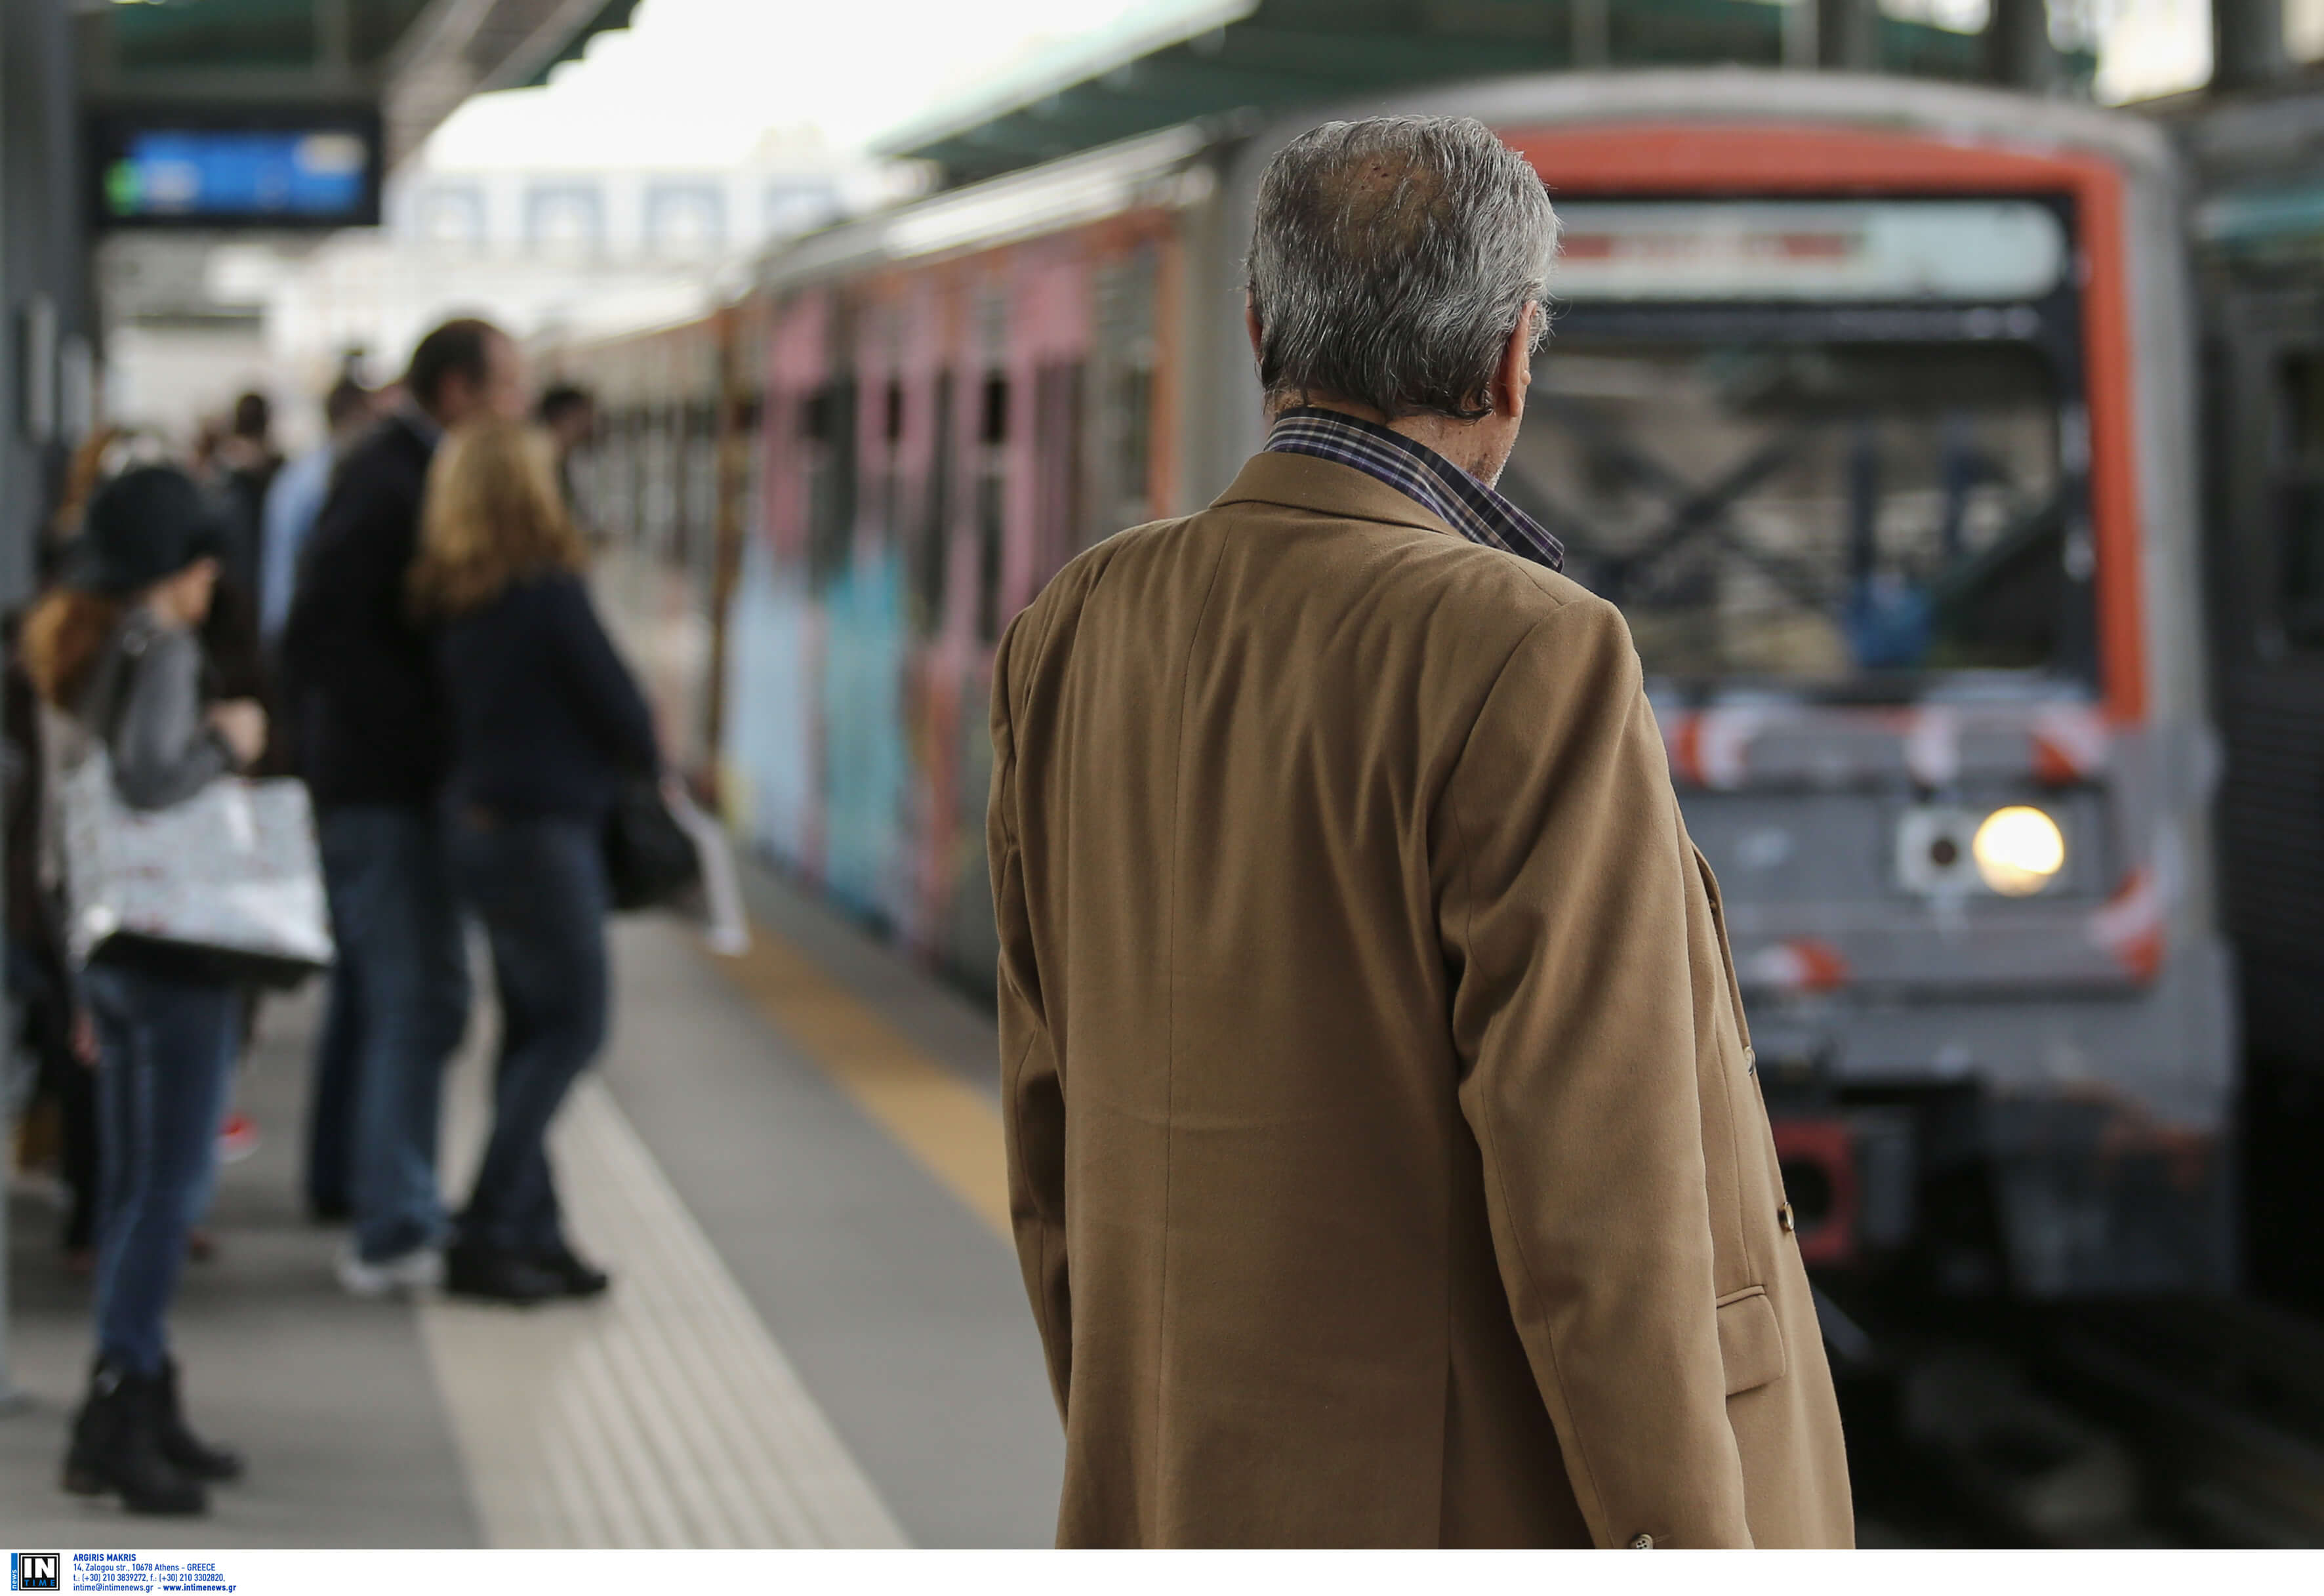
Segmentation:
{"type": "MultiPolygon", "coordinates": [[[[9,0],[14,5],[14,0],[9,0]]],[[[400,160],[453,107],[528,88],[625,28],[637,0],[112,0],[91,7],[100,100],[367,100],[400,160]]]]}

